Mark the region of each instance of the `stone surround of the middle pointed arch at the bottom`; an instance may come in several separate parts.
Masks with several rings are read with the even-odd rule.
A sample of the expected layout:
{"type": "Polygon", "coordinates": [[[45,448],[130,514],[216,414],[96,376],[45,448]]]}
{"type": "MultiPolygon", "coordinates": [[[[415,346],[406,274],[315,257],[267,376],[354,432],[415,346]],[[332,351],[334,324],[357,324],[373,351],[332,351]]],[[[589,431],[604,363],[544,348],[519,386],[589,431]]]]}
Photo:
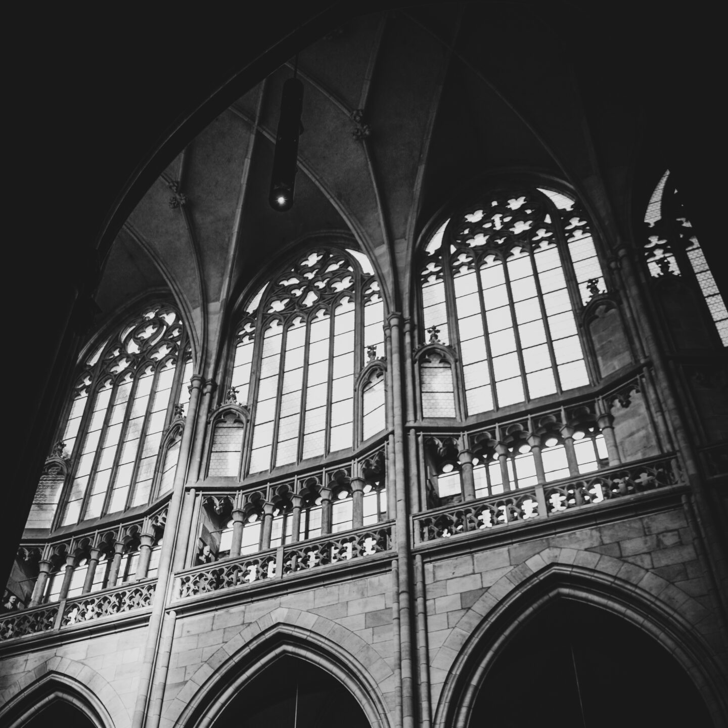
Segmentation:
{"type": "Polygon", "coordinates": [[[248,623],[218,649],[169,701],[162,717],[186,728],[210,728],[245,684],[284,655],[338,679],[371,728],[392,728],[385,697],[393,694],[395,673],[379,653],[333,620],[282,607],[248,623]]]}

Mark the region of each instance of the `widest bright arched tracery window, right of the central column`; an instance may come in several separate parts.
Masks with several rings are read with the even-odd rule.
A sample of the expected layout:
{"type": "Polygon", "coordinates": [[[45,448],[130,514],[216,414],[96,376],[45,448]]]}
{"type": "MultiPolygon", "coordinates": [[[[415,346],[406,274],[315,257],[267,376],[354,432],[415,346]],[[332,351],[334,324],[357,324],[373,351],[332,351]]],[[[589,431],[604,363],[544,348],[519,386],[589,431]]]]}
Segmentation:
{"type": "Polygon", "coordinates": [[[590,384],[578,314],[605,284],[569,195],[483,194],[440,226],[419,272],[422,334],[459,352],[468,415],[590,384]]]}

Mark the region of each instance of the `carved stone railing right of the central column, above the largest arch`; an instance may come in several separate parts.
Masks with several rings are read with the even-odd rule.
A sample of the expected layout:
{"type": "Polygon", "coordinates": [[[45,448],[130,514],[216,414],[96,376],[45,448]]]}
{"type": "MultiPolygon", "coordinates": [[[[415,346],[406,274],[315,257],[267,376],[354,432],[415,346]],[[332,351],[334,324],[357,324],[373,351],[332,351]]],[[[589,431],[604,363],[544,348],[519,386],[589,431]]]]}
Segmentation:
{"type": "Polygon", "coordinates": [[[661,456],[430,510],[414,517],[414,538],[422,543],[488,531],[682,482],[676,457],[661,456]]]}

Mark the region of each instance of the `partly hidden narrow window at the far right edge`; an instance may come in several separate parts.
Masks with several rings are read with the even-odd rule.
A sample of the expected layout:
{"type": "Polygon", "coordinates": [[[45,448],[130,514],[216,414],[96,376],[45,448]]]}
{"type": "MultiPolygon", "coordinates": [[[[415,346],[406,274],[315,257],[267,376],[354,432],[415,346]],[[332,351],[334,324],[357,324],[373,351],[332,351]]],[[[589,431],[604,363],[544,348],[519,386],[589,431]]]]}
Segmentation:
{"type": "Polygon", "coordinates": [[[695,280],[724,347],[728,347],[728,310],[708,267],[695,229],[685,214],[670,170],[652,192],[644,215],[644,256],[652,277],[680,275],[695,280]]]}

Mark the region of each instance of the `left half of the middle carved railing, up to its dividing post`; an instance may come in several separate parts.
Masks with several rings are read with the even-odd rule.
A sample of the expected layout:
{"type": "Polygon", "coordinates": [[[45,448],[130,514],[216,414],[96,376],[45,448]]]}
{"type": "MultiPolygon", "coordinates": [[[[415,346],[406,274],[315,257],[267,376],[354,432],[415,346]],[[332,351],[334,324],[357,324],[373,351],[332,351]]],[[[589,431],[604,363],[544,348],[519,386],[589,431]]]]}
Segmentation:
{"type": "Polygon", "coordinates": [[[275,576],[275,550],[261,551],[256,555],[223,559],[197,567],[182,574],[175,583],[175,596],[183,599],[198,594],[207,594],[221,589],[230,589],[244,584],[253,584],[275,576]]]}

